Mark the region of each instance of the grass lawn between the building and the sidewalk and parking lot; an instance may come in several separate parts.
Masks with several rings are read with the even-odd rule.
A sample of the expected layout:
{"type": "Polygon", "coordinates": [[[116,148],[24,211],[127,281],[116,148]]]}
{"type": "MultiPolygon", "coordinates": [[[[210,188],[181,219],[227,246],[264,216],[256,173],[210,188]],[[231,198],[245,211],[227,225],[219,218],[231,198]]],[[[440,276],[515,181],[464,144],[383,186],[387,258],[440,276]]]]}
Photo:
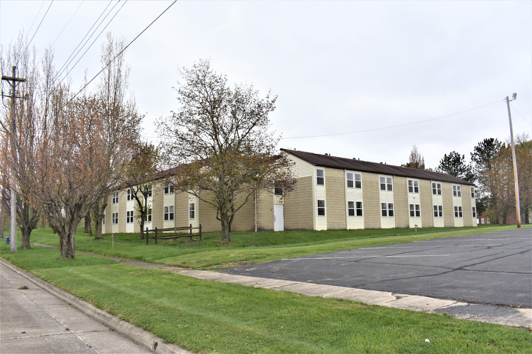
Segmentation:
{"type": "MultiPolygon", "coordinates": [[[[524,227],[529,227],[526,225],[524,227]]],[[[510,230],[515,225],[485,225],[464,228],[414,229],[364,229],[327,231],[278,231],[278,232],[233,232],[229,245],[220,245],[220,234],[204,234],[202,242],[188,238],[178,240],[154,240],[146,246],[139,234],[114,234],[114,249],[110,235],[103,240],[94,240],[83,235],[83,228],[76,234],[77,251],[92,252],[105,256],[122,257],[194,269],[221,269],[241,264],[279,260],[317,253],[342,251],[344,249],[372,247],[418,241],[433,238],[470,235],[480,232],[510,230]]],[[[195,237],[197,239],[197,237],[195,237]]],[[[35,229],[31,241],[59,246],[59,238],[50,229],[35,229]]]]}

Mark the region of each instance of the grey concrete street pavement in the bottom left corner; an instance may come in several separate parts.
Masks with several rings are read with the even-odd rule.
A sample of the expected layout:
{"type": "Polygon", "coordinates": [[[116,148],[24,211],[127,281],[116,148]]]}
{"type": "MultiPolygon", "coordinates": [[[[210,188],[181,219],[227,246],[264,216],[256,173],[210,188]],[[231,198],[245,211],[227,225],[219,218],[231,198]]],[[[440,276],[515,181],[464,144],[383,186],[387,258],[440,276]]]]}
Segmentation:
{"type": "Polygon", "coordinates": [[[151,353],[3,264],[0,292],[2,353],[151,353]]]}

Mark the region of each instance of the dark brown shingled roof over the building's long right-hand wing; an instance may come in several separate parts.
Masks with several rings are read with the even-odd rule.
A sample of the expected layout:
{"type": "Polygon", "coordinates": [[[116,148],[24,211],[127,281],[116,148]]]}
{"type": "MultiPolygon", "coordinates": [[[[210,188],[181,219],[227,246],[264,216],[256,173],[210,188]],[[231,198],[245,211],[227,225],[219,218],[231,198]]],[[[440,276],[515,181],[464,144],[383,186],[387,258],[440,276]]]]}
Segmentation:
{"type": "Polygon", "coordinates": [[[344,157],[336,157],[330,155],[322,155],[313,152],[297,151],[281,149],[281,151],[287,152],[297,158],[300,158],[306,162],[311,163],[314,166],[342,168],[354,171],[374,172],[385,175],[431,179],[439,182],[460,183],[474,186],[473,183],[463,180],[458,177],[454,177],[442,172],[434,172],[427,170],[418,170],[415,168],[386,165],[385,163],[361,161],[355,159],[347,159],[344,157]]]}

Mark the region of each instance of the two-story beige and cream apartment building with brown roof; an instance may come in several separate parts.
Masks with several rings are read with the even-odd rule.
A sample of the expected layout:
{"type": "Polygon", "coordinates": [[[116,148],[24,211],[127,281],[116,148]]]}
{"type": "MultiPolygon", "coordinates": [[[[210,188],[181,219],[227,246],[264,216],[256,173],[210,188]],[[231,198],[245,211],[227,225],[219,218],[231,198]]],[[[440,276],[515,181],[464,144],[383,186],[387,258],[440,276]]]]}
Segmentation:
{"type": "MultiPolygon", "coordinates": [[[[294,162],[295,190],[261,193],[240,209],[232,231],[476,226],[472,183],[447,174],[281,149],[294,162]]],[[[220,231],[216,211],[157,179],[146,184],[145,227],[202,225],[220,231]]],[[[127,190],[108,197],[103,232],[139,232],[127,190]]]]}

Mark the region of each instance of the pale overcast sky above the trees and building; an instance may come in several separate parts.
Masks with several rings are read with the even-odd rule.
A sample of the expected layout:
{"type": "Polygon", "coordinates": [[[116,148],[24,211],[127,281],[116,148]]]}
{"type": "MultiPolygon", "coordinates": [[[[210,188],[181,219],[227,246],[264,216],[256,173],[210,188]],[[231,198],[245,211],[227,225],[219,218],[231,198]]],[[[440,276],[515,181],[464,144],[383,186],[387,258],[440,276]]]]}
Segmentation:
{"type": "MultiPolygon", "coordinates": [[[[19,30],[31,38],[50,3],[2,0],[2,45],[19,30]]],[[[108,4],[54,1],[32,45],[43,53],[79,7],[53,46],[60,67],[108,4]]],[[[74,87],[85,69],[88,77],[99,71],[105,32],[129,42],[170,4],[128,1],[121,7],[72,69],[74,87]]],[[[514,132],[531,133],[517,113],[531,121],[531,18],[530,1],[178,1],[129,47],[127,62],[131,89],[146,113],[143,135],[154,142],[154,122],[177,108],[172,87],[180,79],[178,67],[198,58],[210,58],[232,82],[253,83],[263,96],[270,89],[277,94],[272,129],[285,138],[401,125],[499,101],[425,123],[279,144],[393,165],[406,162],[416,144],[434,168],[444,153],[454,150],[469,159],[484,138],[506,139],[502,100],[513,92],[514,132]]]]}

